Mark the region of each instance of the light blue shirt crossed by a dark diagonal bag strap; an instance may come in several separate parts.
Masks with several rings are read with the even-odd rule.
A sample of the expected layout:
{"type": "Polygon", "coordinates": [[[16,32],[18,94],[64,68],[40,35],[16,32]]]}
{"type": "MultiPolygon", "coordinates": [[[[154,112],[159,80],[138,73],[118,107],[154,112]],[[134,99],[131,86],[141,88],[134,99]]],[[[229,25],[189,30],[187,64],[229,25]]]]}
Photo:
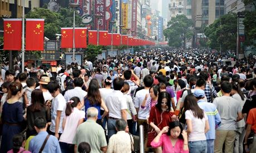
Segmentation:
{"type": "MultiPolygon", "coordinates": [[[[46,139],[46,136],[48,133],[46,131],[41,131],[39,132],[31,141],[29,142],[29,151],[32,153],[38,153],[39,150],[41,149],[43,142],[46,139]]],[[[61,153],[61,147],[60,144],[58,143],[57,137],[50,135],[48,138],[45,148],[43,149],[42,153],[48,153],[48,152],[56,152],[56,153],[61,153]]]]}

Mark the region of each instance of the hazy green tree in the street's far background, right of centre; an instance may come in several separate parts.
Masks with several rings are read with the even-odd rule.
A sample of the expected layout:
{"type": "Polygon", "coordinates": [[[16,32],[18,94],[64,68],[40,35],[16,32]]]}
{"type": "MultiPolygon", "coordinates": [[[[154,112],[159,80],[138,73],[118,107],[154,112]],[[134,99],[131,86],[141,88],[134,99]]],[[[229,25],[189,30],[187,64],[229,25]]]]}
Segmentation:
{"type": "Polygon", "coordinates": [[[186,47],[186,41],[189,40],[193,32],[191,27],[193,22],[184,14],[178,15],[168,22],[168,28],[164,30],[164,35],[169,40],[169,45],[173,47],[186,47]]]}

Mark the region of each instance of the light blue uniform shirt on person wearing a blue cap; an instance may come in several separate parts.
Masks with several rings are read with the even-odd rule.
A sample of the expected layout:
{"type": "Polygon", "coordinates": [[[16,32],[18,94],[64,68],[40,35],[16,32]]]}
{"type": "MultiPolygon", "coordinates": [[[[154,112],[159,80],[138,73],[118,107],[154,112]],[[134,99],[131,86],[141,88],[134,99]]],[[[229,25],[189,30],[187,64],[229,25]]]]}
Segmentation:
{"type": "Polygon", "coordinates": [[[205,100],[198,100],[198,105],[208,116],[210,130],[205,134],[206,140],[215,139],[215,128],[221,123],[219,112],[213,103],[207,103],[205,100]]]}

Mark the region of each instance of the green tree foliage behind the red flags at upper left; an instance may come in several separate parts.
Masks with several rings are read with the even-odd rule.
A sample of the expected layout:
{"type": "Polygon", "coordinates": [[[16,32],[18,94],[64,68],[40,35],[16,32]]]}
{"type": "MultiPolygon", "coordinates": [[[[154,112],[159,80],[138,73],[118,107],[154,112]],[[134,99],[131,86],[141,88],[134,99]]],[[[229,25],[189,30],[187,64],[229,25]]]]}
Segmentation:
{"type": "MultiPolygon", "coordinates": [[[[55,34],[61,32],[62,27],[73,27],[73,11],[61,8],[58,13],[46,8],[34,8],[26,14],[26,18],[45,19],[45,37],[55,40],[55,34]]],[[[76,27],[82,26],[82,19],[76,15],[76,27]]]]}

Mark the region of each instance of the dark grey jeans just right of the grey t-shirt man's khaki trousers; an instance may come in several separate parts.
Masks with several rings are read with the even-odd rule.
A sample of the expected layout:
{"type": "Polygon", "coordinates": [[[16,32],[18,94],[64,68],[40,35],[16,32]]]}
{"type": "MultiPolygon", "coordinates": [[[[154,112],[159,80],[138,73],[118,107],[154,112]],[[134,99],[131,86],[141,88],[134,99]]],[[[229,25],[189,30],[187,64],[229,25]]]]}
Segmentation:
{"type": "Polygon", "coordinates": [[[236,135],[235,135],[234,153],[243,152],[244,136],[245,136],[245,127],[237,128],[237,132],[236,132],[236,135]]]}

